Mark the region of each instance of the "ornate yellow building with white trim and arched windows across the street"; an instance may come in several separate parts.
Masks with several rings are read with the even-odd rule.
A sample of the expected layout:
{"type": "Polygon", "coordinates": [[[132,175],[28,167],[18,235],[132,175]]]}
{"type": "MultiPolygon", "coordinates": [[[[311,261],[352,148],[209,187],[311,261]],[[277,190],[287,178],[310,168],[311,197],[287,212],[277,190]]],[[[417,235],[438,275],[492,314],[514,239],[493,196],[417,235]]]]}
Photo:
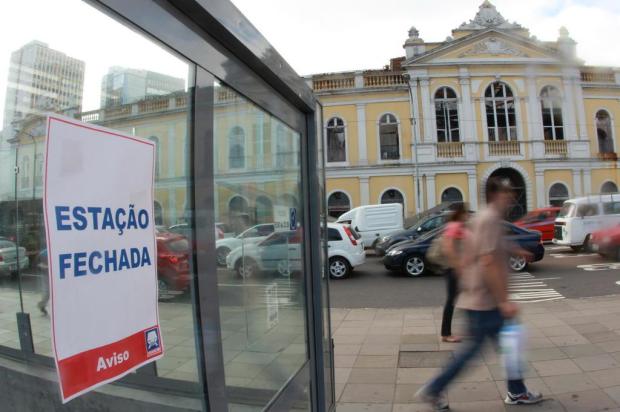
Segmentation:
{"type": "Polygon", "coordinates": [[[584,66],[565,28],[541,41],[485,1],[443,42],[415,28],[383,70],[307,78],[323,105],[330,214],[402,202],[484,201],[518,188],[513,214],[617,191],[620,70],[584,66]]]}

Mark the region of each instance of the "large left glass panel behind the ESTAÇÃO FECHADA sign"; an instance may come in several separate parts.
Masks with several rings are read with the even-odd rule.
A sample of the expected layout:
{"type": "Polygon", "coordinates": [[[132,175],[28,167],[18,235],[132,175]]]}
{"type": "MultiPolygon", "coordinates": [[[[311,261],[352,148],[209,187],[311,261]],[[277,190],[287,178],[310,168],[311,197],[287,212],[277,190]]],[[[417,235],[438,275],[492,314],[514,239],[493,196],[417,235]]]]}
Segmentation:
{"type": "MultiPolygon", "coordinates": [[[[7,91],[0,111],[4,113],[0,148],[3,157],[17,157],[23,167],[19,170],[19,188],[13,193],[6,190],[13,165],[4,158],[0,163],[0,227],[12,233],[19,229],[19,244],[29,259],[22,275],[23,300],[26,312],[31,314],[36,353],[49,356],[52,350],[50,320],[45,313],[48,273],[45,259],[39,256],[46,251],[41,200],[46,135],[43,116],[55,112],[157,143],[157,270],[166,343],[166,356],[157,362],[157,374],[197,382],[194,311],[189,294],[193,234],[187,220],[190,66],[82,1],[67,0],[62,7],[52,2],[23,1],[15,4],[12,13],[14,20],[29,24],[12,25],[10,39],[5,37],[0,46],[0,63],[5,69],[0,90],[7,91]],[[35,32],[40,37],[33,37],[35,32]],[[17,101],[20,103],[15,104],[17,101]],[[16,224],[18,207],[21,212],[16,224]],[[168,230],[171,226],[176,233],[168,230]]],[[[11,326],[4,316],[14,316],[15,303],[9,303],[16,302],[16,287],[14,279],[2,278],[0,344],[6,344],[5,338],[11,336],[5,333],[11,326]]]]}

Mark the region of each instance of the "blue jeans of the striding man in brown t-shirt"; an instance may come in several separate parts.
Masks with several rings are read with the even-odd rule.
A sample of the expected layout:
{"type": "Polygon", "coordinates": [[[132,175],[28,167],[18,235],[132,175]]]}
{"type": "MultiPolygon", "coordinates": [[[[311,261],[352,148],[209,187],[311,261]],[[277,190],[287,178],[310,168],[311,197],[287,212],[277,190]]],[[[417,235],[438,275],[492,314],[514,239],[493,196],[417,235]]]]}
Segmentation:
{"type": "MultiPolygon", "coordinates": [[[[497,344],[499,331],[504,324],[504,318],[498,309],[494,310],[468,310],[469,329],[471,340],[464,343],[465,347],[459,351],[454,360],[446,366],[439,376],[431,381],[428,392],[438,395],[454,379],[474,356],[480,353],[484,341],[489,338],[497,344]]],[[[522,379],[509,380],[508,392],[513,395],[522,395],[527,392],[522,379]]]]}

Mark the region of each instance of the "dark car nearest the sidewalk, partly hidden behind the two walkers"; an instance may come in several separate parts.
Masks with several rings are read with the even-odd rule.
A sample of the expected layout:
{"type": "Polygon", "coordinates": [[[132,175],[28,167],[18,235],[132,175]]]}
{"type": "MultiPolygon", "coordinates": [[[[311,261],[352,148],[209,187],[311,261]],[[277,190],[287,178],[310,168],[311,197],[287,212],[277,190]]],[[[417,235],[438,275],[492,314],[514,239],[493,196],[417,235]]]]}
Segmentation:
{"type": "MultiPolygon", "coordinates": [[[[508,240],[533,254],[529,262],[537,262],[544,257],[545,248],[542,245],[540,232],[523,229],[508,222],[504,222],[504,228],[508,240]]],[[[442,231],[443,228],[435,229],[416,240],[394,246],[383,258],[383,264],[387,269],[403,271],[413,277],[434,271],[435,268],[426,260],[426,252],[442,231]]],[[[515,272],[524,270],[527,264],[528,261],[520,256],[511,256],[508,261],[510,269],[515,272]]]]}

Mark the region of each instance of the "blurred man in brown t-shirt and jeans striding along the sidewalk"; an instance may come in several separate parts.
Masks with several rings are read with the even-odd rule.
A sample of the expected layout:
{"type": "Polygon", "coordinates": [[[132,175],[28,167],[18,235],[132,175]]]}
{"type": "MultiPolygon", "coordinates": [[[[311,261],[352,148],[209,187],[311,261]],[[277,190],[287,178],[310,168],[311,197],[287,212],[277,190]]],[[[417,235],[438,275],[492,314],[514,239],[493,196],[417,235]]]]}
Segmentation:
{"type": "MultiPolygon", "coordinates": [[[[487,183],[487,201],[487,208],[471,222],[471,237],[465,245],[461,293],[457,301],[457,307],[467,313],[471,340],[439,376],[416,394],[431,403],[435,411],[449,410],[443,396],[448,384],[480,353],[487,338],[497,342],[504,320],[514,318],[519,311],[516,303],[508,301],[509,255],[502,223],[513,201],[512,189],[503,181],[491,178],[487,183]]],[[[506,404],[533,404],[542,400],[540,393],[525,387],[523,379],[508,380],[507,383],[506,404]]]]}

